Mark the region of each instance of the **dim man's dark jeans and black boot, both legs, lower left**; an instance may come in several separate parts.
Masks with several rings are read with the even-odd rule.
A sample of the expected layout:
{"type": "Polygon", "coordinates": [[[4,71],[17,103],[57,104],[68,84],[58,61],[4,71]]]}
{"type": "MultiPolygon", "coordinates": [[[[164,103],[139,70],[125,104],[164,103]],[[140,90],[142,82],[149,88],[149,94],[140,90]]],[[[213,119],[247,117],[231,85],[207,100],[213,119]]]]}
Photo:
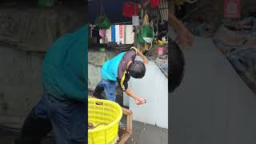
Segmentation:
{"type": "Polygon", "coordinates": [[[56,144],[87,144],[87,106],[75,100],[60,101],[43,94],[26,117],[17,144],[39,144],[54,130],[56,144]]]}

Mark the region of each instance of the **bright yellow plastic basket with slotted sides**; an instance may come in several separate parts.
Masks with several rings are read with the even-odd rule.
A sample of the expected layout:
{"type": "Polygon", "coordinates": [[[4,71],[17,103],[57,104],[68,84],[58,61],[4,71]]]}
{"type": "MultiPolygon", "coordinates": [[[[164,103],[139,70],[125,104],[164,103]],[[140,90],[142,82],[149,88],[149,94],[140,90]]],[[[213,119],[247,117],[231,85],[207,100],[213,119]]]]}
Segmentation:
{"type": "Polygon", "coordinates": [[[88,130],[89,144],[112,144],[118,138],[118,124],[122,118],[122,107],[116,102],[88,98],[88,121],[94,126],[88,130]]]}

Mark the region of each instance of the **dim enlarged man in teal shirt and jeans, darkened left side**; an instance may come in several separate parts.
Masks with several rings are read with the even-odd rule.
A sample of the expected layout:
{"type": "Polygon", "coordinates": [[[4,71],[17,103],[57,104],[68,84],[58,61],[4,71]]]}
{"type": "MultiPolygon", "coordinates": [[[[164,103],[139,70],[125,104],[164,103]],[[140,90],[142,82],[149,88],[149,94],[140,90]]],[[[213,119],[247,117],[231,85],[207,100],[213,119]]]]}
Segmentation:
{"type": "Polygon", "coordinates": [[[88,26],[64,34],[42,65],[44,94],[26,117],[17,144],[39,144],[54,130],[57,144],[87,143],[88,26]]]}

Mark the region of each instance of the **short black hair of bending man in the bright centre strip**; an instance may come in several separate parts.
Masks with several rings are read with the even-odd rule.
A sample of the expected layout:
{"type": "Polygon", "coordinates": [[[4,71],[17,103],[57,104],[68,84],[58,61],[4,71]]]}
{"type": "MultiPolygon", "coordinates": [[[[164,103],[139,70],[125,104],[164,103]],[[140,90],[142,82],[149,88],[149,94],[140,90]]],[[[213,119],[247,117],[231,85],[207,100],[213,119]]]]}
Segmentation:
{"type": "Polygon", "coordinates": [[[146,66],[141,61],[134,61],[130,63],[128,72],[133,78],[143,78],[146,73],[146,66]]]}

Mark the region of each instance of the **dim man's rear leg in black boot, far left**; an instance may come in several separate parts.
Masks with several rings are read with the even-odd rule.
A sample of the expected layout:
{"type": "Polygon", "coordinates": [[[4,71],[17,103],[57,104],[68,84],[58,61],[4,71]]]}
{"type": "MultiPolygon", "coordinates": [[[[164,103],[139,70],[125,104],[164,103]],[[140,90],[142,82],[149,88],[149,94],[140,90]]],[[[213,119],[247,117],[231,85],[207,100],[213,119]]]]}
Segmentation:
{"type": "Polygon", "coordinates": [[[42,138],[52,129],[50,120],[46,115],[46,96],[42,96],[34,109],[26,117],[21,134],[15,144],[39,144],[42,138]]]}

